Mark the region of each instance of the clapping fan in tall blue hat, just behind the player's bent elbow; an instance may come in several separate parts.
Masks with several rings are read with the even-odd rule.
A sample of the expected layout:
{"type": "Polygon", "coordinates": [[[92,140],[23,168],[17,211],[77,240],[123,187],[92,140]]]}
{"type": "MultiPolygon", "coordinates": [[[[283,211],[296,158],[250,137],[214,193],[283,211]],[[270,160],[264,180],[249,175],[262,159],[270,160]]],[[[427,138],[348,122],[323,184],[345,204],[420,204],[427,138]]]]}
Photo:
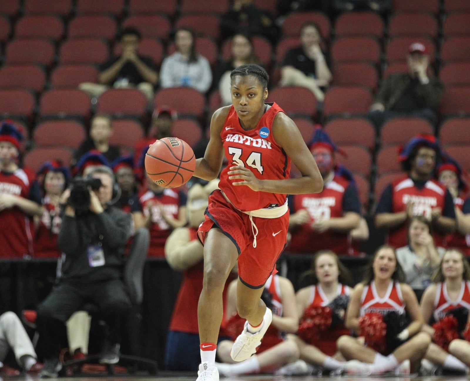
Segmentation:
{"type": "Polygon", "coordinates": [[[335,173],[335,153],[341,151],[321,128],[315,130],[309,148],[323,178],[323,190],[289,196],[292,238],[287,250],[305,253],[315,248],[352,254],[349,234],[360,224],[357,188],[335,173]]]}

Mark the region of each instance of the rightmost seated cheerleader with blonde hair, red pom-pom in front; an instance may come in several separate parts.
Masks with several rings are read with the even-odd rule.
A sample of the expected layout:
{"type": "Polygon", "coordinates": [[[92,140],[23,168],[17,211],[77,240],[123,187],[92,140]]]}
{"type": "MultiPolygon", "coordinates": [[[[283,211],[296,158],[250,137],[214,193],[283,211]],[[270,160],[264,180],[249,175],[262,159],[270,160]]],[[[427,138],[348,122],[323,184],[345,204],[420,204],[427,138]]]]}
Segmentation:
{"type": "Polygon", "coordinates": [[[452,341],[463,330],[470,309],[470,265],[462,252],[447,250],[432,280],[434,284],[426,288],[421,301],[426,323],[423,332],[434,339],[425,358],[444,369],[468,373],[470,358],[467,353],[470,345],[463,340],[452,341]],[[449,315],[455,319],[444,319],[449,315]],[[435,323],[432,327],[430,321],[435,323]],[[452,345],[449,345],[451,342],[452,345]],[[464,348],[467,349],[462,351],[464,348]],[[465,356],[462,356],[463,353],[465,356]]]}

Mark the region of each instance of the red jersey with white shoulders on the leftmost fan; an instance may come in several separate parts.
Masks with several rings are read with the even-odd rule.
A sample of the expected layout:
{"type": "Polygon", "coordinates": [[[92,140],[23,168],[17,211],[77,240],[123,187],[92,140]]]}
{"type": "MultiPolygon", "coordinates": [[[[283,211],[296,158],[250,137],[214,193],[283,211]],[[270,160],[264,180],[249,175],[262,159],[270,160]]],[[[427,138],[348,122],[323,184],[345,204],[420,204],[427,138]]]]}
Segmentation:
{"type": "MultiPolygon", "coordinates": [[[[28,198],[31,179],[22,169],[13,173],[0,171],[0,194],[13,194],[28,198]]],[[[18,208],[0,211],[0,257],[23,258],[33,256],[32,218],[18,208]]]]}

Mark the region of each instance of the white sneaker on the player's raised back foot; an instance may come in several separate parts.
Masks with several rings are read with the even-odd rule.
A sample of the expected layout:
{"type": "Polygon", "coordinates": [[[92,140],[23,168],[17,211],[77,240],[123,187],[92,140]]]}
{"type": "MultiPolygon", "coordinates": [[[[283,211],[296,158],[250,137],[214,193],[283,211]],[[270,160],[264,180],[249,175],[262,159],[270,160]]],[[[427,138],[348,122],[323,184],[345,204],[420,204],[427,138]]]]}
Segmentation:
{"type": "Polygon", "coordinates": [[[273,312],[269,308],[266,308],[263,322],[261,323],[261,329],[257,333],[251,334],[248,332],[248,321],[245,321],[243,331],[236,338],[232,350],[230,351],[232,359],[234,361],[243,361],[249,359],[251,355],[256,353],[256,348],[261,344],[261,339],[272,321],[273,312]]]}

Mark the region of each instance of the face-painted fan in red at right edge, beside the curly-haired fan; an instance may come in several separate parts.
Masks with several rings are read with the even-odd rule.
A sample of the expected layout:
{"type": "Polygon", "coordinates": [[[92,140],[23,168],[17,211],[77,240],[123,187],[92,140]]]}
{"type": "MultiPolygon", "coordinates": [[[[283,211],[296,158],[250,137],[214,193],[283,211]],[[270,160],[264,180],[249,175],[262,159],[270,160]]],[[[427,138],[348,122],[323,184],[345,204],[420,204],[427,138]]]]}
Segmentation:
{"type": "Polygon", "coordinates": [[[445,162],[439,165],[438,178],[452,194],[457,219],[457,231],[447,235],[446,244],[470,256],[470,197],[468,187],[462,179],[462,168],[447,156],[445,162]]]}

